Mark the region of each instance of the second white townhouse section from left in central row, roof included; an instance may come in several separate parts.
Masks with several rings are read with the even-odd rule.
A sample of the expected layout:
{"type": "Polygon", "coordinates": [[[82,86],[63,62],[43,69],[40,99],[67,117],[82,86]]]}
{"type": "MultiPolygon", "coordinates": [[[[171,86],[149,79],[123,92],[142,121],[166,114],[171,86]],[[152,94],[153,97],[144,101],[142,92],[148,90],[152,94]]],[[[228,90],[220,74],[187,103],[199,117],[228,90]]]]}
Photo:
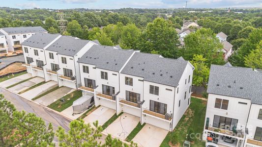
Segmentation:
{"type": "Polygon", "coordinates": [[[61,36],[45,51],[45,80],[58,81],[59,86],[77,89],[81,83],[77,61],[96,43],[72,36],[61,36]]]}

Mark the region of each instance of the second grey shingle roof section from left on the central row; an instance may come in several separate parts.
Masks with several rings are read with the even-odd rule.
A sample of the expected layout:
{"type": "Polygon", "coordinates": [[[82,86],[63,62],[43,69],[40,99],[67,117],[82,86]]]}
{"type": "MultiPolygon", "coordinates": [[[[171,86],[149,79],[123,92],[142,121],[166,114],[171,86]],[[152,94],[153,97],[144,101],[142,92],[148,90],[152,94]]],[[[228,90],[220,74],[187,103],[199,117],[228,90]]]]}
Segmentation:
{"type": "Polygon", "coordinates": [[[61,36],[46,50],[56,51],[58,54],[74,56],[83,49],[89,40],[81,40],[72,36],[61,36]]]}

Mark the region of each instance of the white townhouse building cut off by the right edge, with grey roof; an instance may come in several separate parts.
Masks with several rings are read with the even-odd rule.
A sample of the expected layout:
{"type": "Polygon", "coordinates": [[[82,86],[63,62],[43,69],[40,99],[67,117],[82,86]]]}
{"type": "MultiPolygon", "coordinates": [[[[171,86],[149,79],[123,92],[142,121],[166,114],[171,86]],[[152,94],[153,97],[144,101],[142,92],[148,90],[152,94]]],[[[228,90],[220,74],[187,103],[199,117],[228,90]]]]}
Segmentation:
{"type": "Polygon", "coordinates": [[[211,65],[203,140],[223,147],[262,147],[262,73],[211,65]]]}

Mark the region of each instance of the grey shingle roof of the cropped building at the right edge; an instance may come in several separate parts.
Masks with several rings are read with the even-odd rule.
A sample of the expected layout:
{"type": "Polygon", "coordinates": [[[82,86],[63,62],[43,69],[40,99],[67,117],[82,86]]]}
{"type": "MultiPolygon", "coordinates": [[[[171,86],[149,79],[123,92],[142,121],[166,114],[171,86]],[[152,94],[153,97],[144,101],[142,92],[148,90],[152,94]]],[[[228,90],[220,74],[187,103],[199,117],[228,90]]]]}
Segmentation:
{"type": "Polygon", "coordinates": [[[251,68],[211,65],[207,93],[262,104],[262,73],[251,68]]]}

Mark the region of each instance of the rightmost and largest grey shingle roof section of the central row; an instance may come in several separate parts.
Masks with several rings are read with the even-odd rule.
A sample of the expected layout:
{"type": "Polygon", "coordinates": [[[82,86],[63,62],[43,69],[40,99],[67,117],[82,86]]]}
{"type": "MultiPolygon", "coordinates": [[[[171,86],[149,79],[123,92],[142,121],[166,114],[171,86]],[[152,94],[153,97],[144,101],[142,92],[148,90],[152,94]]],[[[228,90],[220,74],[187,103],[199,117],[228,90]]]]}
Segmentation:
{"type": "Polygon", "coordinates": [[[157,54],[136,52],[121,73],[144,77],[144,80],[178,86],[188,61],[160,57],[157,54]]]}

